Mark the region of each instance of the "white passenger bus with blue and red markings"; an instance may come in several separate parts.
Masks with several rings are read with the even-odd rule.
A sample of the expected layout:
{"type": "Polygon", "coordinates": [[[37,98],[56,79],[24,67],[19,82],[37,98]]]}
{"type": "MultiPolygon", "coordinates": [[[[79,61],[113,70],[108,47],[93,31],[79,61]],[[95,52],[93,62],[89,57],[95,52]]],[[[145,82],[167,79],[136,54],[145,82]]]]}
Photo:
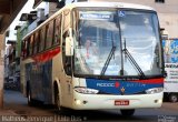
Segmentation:
{"type": "Polygon", "coordinates": [[[21,81],[34,100],[73,110],[160,108],[157,12],[120,2],[63,7],[22,40],[21,81]]]}

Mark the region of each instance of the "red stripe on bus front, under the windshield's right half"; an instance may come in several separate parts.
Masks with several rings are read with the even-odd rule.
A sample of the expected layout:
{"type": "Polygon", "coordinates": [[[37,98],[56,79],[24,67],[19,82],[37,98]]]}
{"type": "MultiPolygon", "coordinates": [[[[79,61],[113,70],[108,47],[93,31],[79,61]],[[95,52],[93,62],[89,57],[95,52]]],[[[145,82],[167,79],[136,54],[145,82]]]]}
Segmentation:
{"type": "Polygon", "coordinates": [[[140,83],[145,83],[145,84],[160,84],[160,83],[164,83],[164,78],[148,79],[148,80],[135,80],[132,82],[140,82],[140,83]]]}

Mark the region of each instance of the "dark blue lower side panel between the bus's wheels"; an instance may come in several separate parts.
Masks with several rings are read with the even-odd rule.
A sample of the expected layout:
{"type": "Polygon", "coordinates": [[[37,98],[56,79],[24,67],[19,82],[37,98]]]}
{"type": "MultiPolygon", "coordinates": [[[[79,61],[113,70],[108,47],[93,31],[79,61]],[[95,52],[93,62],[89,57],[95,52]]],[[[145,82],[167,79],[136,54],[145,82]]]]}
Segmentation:
{"type": "Polygon", "coordinates": [[[51,103],[51,65],[52,60],[47,62],[33,62],[26,64],[27,81],[30,84],[31,96],[44,103],[51,103]]]}

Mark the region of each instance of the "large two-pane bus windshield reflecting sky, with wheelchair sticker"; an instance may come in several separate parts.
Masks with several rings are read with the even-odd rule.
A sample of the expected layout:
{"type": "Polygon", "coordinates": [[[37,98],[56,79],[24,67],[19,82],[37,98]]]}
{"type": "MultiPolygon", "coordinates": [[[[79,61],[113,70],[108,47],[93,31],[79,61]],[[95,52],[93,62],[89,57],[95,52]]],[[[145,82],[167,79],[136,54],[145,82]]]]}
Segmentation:
{"type": "Polygon", "coordinates": [[[156,12],[93,9],[77,12],[75,74],[161,74],[156,12]]]}

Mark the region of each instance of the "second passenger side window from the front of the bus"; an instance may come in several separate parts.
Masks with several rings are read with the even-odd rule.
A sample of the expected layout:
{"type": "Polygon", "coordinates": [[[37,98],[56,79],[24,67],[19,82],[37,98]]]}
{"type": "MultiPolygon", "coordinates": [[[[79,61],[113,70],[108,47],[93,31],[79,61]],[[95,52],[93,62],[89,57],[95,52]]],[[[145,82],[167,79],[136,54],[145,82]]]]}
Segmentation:
{"type": "Polygon", "coordinates": [[[53,39],[53,20],[47,26],[46,49],[51,48],[53,39]]]}

